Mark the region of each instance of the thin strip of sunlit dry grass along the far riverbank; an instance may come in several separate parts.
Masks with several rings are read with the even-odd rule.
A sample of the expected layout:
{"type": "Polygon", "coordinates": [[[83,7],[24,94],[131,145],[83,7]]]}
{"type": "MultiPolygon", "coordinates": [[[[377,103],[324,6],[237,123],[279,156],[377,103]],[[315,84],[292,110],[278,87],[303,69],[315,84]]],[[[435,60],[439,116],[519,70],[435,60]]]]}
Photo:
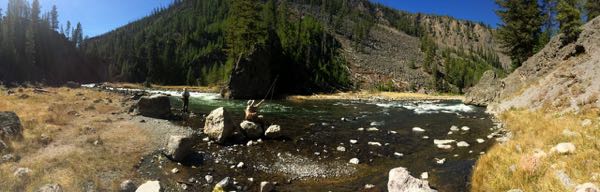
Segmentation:
{"type": "Polygon", "coordinates": [[[290,100],[345,100],[345,99],[389,99],[389,100],[464,100],[460,95],[428,95],[421,93],[398,92],[346,92],[335,94],[317,94],[311,96],[290,96],[290,100]]]}

